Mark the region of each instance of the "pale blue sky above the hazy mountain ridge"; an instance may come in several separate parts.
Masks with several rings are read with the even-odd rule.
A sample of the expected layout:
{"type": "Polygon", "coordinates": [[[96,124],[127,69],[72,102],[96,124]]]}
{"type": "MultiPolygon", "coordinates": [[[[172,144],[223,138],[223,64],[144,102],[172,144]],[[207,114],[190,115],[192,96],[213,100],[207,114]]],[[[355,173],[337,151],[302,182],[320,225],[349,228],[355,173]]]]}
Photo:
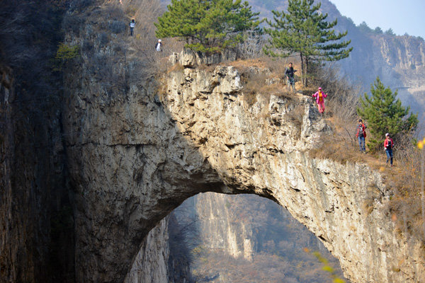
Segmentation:
{"type": "Polygon", "coordinates": [[[392,28],[396,35],[421,36],[425,39],[425,0],[329,0],[341,15],[356,25],[365,21],[372,29],[392,28]]]}

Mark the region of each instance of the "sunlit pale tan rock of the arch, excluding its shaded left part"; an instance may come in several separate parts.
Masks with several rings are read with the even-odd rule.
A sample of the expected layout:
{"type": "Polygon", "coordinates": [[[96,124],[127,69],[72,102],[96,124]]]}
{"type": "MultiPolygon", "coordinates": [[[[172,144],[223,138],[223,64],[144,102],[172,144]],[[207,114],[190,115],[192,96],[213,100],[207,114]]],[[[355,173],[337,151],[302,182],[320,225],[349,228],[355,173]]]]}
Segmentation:
{"type": "Polygon", "coordinates": [[[291,102],[271,96],[267,101],[259,93],[258,102],[247,108],[243,90],[234,83],[237,76],[233,67],[217,67],[209,77],[184,69],[170,76],[164,96],[181,132],[227,187],[287,207],[339,258],[353,282],[419,282],[424,272],[421,243],[393,233],[385,209],[390,192],[381,176],[363,164],[309,158],[314,138],[327,128],[307,98],[291,102]],[[200,78],[206,79],[199,83],[200,78]],[[210,85],[217,87],[203,92],[210,85]],[[288,116],[300,106],[304,115],[297,136],[288,116]],[[264,109],[270,116],[261,115],[264,109]]]}

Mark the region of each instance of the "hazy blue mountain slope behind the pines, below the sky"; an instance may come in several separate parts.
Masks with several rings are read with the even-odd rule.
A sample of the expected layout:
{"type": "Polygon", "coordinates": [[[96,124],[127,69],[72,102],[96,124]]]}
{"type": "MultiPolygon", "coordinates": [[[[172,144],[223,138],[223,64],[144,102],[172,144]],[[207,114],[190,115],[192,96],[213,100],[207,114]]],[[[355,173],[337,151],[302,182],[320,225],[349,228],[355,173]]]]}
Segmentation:
{"type": "MultiPolygon", "coordinates": [[[[341,68],[341,74],[348,75],[353,82],[361,83],[363,92],[367,93],[370,93],[370,84],[379,76],[385,86],[393,91],[398,89],[403,104],[410,105],[424,120],[424,39],[410,35],[390,35],[380,28],[372,30],[365,24],[356,26],[351,18],[342,16],[330,1],[320,2],[320,11],[328,13],[328,21],[338,18],[336,31],[348,30],[346,39],[351,40],[350,46],[354,47],[350,57],[336,63],[341,68]]],[[[282,11],[288,7],[287,0],[250,0],[249,4],[254,11],[261,12],[261,17],[267,18],[272,18],[271,10],[282,11]]]]}

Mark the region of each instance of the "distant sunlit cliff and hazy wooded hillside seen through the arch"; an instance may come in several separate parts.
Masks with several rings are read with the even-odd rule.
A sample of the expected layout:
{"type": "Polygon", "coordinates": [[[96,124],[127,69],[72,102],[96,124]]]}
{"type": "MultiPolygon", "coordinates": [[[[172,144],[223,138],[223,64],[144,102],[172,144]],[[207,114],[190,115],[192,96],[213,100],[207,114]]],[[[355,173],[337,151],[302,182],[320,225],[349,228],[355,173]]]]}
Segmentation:
{"type": "Polygon", "coordinates": [[[256,195],[198,194],[174,210],[191,248],[195,282],[325,283],[319,251],[342,278],[339,262],[304,225],[256,195]]]}

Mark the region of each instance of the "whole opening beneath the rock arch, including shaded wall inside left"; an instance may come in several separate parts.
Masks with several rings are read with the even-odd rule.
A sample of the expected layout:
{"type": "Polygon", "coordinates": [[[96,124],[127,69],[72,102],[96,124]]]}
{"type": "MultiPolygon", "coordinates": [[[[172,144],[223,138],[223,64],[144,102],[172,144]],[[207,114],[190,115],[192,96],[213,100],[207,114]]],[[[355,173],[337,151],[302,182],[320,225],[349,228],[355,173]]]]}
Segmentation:
{"type": "Polygon", "coordinates": [[[160,277],[167,282],[302,283],[329,282],[332,276],[349,282],[319,238],[287,209],[258,195],[200,193],[174,209],[147,239],[126,283],[160,277]],[[164,263],[154,272],[147,254],[152,243],[166,255],[157,258],[164,263]]]}

